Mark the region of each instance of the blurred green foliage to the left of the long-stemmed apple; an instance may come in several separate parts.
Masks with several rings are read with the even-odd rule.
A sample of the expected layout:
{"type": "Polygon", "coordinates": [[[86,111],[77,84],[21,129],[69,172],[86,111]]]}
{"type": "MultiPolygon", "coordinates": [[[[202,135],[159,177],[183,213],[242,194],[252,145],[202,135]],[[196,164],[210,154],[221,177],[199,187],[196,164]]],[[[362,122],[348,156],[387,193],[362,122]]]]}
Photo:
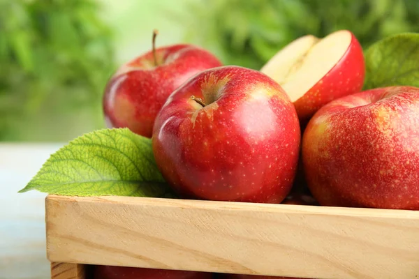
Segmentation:
{"type": "Polygon", "coordinates": [[[68,140],[102,125],[113,52],[98,12],[90,0],[0,0],[0,141],[68,140]]]}

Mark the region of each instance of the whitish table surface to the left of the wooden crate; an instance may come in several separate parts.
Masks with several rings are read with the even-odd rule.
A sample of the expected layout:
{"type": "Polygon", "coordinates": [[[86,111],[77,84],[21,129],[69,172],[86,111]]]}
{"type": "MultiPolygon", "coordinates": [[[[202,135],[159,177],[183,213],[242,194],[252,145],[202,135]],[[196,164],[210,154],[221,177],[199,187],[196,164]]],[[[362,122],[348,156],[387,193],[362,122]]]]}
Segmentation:
{"type": "Polygon", "coordinates": [[[64,144],[0,142],[0,279],[47,279],[45,194],[18,194],[64,144]]]}

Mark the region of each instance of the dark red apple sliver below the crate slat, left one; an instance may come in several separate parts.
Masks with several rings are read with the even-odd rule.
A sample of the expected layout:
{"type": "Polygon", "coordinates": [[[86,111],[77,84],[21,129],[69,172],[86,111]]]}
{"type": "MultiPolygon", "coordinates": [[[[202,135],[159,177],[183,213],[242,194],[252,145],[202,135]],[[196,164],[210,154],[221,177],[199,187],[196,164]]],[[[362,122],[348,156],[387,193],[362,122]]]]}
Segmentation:
{"type": "Polygon", "coordinates": [[[124,266],[95,266],[94,279],[211,279],[212,273],[124,266]]]}

